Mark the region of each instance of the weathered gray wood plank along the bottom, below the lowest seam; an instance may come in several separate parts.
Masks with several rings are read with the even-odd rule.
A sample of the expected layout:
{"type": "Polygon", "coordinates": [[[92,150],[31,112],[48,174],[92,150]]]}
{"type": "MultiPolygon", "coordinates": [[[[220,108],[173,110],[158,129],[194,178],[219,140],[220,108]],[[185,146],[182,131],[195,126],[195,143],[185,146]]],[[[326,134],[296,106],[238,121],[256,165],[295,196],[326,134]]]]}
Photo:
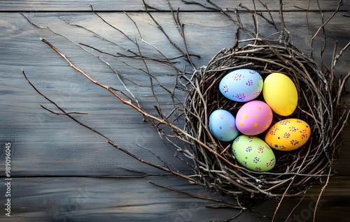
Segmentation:
{"type": "MultiPolygon", "coordinates": [[[[11,217],[5,211],[1,221],[224,221],[238,209],[211,209],[221,202],[200,200],[148,183],[155,182],[176,190],[206,198],[235,202],[218,193],[190,185],[176,177],[84,178],[46,177],[13,178],[11,181],[11,217]],[[34,204],[35,203],[35,204],[34,204]]],[[[291,214],[291,221],[311,221],[320,186],[315,186],[291,214]]],[[[335,178],[318,204],[316,221],[348,221],[349,177],[335,178]]],[[[0,186],[6,192],[6,186],[0,186]]],[[[276,219],[286,219],[302,197],[286,199],[276,219]]],[[[3,202],[3,198],[1,198],[3,202]]],[[[272,216],[277,202],[268,201],[255,211],[272,216]]],[[[237,221],[266,221],[244,212],[237,221]]],[[[283,220],[284,221],[284,220],[283,220]]]]}

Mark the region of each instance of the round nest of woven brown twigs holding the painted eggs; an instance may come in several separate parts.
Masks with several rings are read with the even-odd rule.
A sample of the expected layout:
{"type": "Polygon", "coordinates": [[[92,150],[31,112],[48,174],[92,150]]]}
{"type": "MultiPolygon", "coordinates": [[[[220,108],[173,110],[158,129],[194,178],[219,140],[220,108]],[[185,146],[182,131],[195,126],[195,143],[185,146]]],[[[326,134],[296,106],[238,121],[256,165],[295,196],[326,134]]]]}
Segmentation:
{"type": "MultiPolygon", "coordinates": [[[[339,87],[328,70],[320,68],[293,45],[264,39],[241,40],[239,44],[244,46],[237,44],[216,54],[207,66],[195,71],[191,80],[185,129],[197,138],[191,140],[197,175],[207,188],[232,195],[243,205],[304,193],[316,179],[326,179],[334,173],[332,164],[341,142],[339,121],[344,118],[337,99],[339,87]],[[271,73],[281,73],[296,89],[295,110],[288,114],[273,112],[267,130],[253,136],[256,140],[265,141],[266,133],[286,119],[299,119],[309,127],[304,132],[309,133],[305,134],[309,139],[298,149],[273,149],[275,162],[271,160],[273,168],[267,172],[246,168],[232,152],[235,140],[218,140],[209,128],[209,116],[215,110],[225,110],[237,117],[246,104],[227,98],[219,90],[223,77],[239,68],[258,72],[263,81],[271,73]]],[[[253,100],[265,102],[262,94],[253,100]]]]}

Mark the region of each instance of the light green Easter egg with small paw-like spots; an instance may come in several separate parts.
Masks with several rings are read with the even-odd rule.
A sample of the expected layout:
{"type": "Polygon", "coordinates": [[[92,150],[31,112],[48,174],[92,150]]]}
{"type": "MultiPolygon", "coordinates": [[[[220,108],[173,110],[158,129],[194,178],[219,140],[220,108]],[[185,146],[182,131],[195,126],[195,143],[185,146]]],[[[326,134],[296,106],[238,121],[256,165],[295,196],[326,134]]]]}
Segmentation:
{"type": "Polygon", "coordinates": [[[274,151],[260,138],[240,135],[232,142],[232,152],[237,162],[249,170],[266,172],[274,168],[274,151]]]}

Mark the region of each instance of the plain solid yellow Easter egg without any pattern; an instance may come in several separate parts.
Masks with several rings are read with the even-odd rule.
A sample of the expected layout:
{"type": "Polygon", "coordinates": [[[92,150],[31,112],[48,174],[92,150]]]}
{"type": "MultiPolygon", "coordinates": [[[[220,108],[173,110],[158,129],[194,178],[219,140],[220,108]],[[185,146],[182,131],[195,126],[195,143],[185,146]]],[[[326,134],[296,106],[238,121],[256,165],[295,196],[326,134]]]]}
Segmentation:
{"type": "Polygon", "coordinates": [[[271,73],[267,75],[262,96],[272,111],[281,116],[292,114],[297,108],[297,89],[287,75],[271,73]]]}

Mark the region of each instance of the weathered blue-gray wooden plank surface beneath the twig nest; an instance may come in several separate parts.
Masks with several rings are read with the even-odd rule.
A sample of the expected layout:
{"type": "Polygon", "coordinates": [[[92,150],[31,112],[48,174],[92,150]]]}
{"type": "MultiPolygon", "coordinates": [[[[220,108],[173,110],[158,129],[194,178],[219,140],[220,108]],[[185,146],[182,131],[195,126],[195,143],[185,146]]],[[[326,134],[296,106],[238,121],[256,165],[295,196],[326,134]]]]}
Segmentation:
{"type": "MultiPolygon", "coordinates": [[[[182,44],[176,30],[167,1],[146,1],[148,5],[164,10],[153,13],[172,40],[182,44]]],[[[203,66],[224,47],[234,43],[235,25],[221,13],[195,4],[170,1],[174,8],[180,7],[181,22],[186,24],[188,49],[200,54],[195,64],[203,66]]],[[[343,1],[349,8],[349,1],[343,1]]],[[[162,164],[149,150],[171,163],[181,172],[191,174],[187,165],[174,158],[153,128],[142,121],[141,114],[120,104],[108,92],[99,89],[84,77],[73,71],[66,61],[41,42],[45,38],[66,54],[76,66],[87,71],[97,80],[111,87],[121,89],[121,84],[109,66],[74,43],[85,43],[111,54],[125,53],[125,49],[137,48],[123,34],[111,29],[99,17],[90,12],[90,4],[105,20],[132,39],[139,39],[134,22],[144,40],[155,45],[169,57],[179,56],[163,36],[151,18],[144,13],[142,1],[1,1],[0,2],[0,140],[1,185],[0,221],[224,221],[239,212],[237,209],[213,209],[207,205],[220,206],[218,202],[199,200],[183,193],[169,191],[149,181],[193,195],[230,200],[218,193],[209,193],[202,187],[190,185],[186,180],[166,175],[134,160],[108,145],[104,138],[79,126],[69,118],[43,110],[39,103],[52,108],[47,101],[36,94],[22,75],[23,68],[38,89],[46,96],[71,112],[88,112],[78,119],[108,135],[118,145],[148,161],[162,164]],[[29,23],[40,26],[38,28],[29,23]],[[127,12],[127,15],[123,12],[127,12]],[[129,17],[128,17],[129,16],[129,17]],[[132,20],[130,20],[132,17],[132,20]],[[69,23],[68,23],[69,22],[69,23]],[[71,24],[78,24],[82,29],[71,24]],[[49,29],[48,29],[48,28],[49,29]],[[100,38],[91,31],[103,36],[100,38]],[[55,34],[56,33],[56,34],[55,34]],[[60,35],[57,35],[60,34],[60,35]],[[64,37],[66,38],[64,38],[64,37]],[[67,40],[69,38],[69,40],[67,40]],[[113,40],[113,44],[108,40],[113,40]],[[6,216],[5,143],[11,143],[11,216],[6,216]],[[147,149],[143,148],[146,147],[147,149]]],[[[338,1],[320,1],[325,10],[325,20],[337,8],[338,1]]],[[[252,7],[251,2],[244,3],[252,7]]],[[[278,20],[278,4],[267,2],[278,20]]],[[[223,8],[235,8],[239,1],[218,1],[223,8]]],[[[309,30],[314,33],[320,27],[321,15],[317,4],[312,1],[309,8],[316,10],[306,14],[305,1],[290,1],[284,4],[286,25],[293,34],[293,41],[300,49],[309,53],[309,30]],[[306,15],[308,17],[306,17],[306,15]],[[307,24],[307,18],[309,24],[307,24]]],[[[258,9],[263,10],[259,7],[258,9]]],[[[350,40],[349,13],[340,11],[326,25],[328,45],[325,64],[330,64],[335,41],[339,49],[350,40]]],[[[241,15],[251,24],[250,15],[241,15]]],[[[261,22],[261,31],[271,29],[261,22]]],[[[319,52],[321,43],[315,44],[319,52]]],[[[151,47],[142,45],[142,52],[159,56],[151,47]]],[[[126,84],[139,98],[147,110],[153,110],[155,101],[147,87],[138,87],[128,80],[145,84],[148,78],[140,71],[127,66],[142,67],[141,61],[111,58],[102,55],[127,80],[126,84]],[[123,62],[125,63],[123,63],[123,62]]],[[[344,52],[339,60],[337,75],[349,71],[350,54],[344,52]]],[[[179,60],[179,67],[187,66],[179,60]]],[[[174,75],[167,66],[150,64],[149,68],[167,86],[174,84],[174,75]]],[[[348,88],[349,89],[349,88],[348,88]]],[[[161,91],[160,91],[161,94],[161,91]]],[[[162,103],[167,98],[160,97],[162,103]]],[[[349,96],[345,99],[349,101],[349,96]]],[[[154,112],[154,111],[151,111],[154,112]]],[[[330,179],[319,202],[316,221],[350,220],[350,128],[342,132],[344,147],[337,163],[337,176],[330,179]]],[[[304,200],[295,209],[290,221],[311,221],[315,201],[321,185],[315,185],[307,192],[304,200]]],[[[277,214],[284,221],[302,197],[285,200],[277,214]]],[[[265,202],[255,207],[256,212],[267,216],[274,214],[277,203],[265,202]]],[[[244,212],[235,221],[264,221],[244,212]]]]}

